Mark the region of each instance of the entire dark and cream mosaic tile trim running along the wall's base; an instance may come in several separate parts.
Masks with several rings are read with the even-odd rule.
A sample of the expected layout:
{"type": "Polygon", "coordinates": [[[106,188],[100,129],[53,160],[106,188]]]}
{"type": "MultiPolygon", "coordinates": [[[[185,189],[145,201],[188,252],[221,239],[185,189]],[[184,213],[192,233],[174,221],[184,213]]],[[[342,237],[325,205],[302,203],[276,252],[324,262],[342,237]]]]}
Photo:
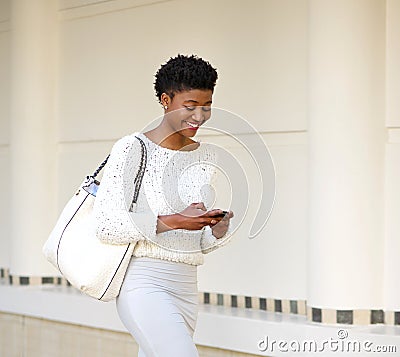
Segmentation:
{"type": "MultiPolygon", "coordinates": [[[[0,268],[1,282],[7,285],[54,284],[71,286],[63,277],[16,276],[9,269],[0,268]]],[[[384,310],[332,310],[307,306],[305,300],[273,299],[259,296],[231,295],[214,292],[199,292],[199,303],[259,309],[284,314],[305,315],[308,321],[326,324],[400,325],[400,311],[384,310]]]]}

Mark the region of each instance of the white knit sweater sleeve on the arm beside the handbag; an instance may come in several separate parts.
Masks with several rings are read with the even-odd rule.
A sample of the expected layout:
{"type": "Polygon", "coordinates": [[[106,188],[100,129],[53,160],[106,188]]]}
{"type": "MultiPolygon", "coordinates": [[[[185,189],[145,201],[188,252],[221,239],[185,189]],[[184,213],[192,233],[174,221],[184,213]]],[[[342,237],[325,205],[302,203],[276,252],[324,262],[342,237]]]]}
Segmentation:
{"type": "Polygon", "coordinates": [[[111,150],[93,206],[96,235],[104,243],[127,244],[156,236],[157,212],[148,206],[129,211],[141,152],[133,135],[119,139],[111,150]]]}

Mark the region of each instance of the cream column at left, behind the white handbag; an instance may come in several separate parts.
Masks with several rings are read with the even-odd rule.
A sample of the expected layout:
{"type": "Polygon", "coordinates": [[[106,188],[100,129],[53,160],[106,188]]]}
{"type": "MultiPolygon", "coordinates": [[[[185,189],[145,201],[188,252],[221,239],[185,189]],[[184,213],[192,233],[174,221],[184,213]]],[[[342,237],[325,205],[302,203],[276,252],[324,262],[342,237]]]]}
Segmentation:
{"type": "Polygon", "coordinates": [[[14,275],[49,271],[42,245],[56,212],[57,5],[11,2],[11,266],[14,275]]]}

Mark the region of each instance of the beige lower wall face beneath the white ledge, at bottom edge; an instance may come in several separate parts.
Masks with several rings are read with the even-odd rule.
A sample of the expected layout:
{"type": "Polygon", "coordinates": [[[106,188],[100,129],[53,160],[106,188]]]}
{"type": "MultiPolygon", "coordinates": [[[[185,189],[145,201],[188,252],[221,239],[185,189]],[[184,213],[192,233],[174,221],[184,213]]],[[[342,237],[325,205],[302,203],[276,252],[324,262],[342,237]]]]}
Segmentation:
{"type": "MultiPolygon", "coordinates": [[[[198,346],[200,357],[250,357],[198,346]]],[[[128,333],[0,313],[1,357],[133,357],[138,346],[128,333]]]]}

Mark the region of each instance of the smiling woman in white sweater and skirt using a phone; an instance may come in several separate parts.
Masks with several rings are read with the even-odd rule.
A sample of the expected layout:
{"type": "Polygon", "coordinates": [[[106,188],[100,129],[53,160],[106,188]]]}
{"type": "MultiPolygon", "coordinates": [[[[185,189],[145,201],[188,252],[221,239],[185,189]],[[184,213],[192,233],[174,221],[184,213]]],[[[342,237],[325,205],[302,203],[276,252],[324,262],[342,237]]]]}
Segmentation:
{"type": "Polygon", "coordinates": [[[229,241],[233,217],[209,209],[212,195],[203,199],[216,176],[216,152],[192,139],[211,116],[216,80],[216,70],[195,55],[162,65],[154,85],[163,120],[114,144],[97,192],[99,239],[136,243],[116,305],[139,357],[198,356],[197,266],[229,241]],[[136,209],[129,212],[142,155],[138,138],[147,164],[136,209]]]}

